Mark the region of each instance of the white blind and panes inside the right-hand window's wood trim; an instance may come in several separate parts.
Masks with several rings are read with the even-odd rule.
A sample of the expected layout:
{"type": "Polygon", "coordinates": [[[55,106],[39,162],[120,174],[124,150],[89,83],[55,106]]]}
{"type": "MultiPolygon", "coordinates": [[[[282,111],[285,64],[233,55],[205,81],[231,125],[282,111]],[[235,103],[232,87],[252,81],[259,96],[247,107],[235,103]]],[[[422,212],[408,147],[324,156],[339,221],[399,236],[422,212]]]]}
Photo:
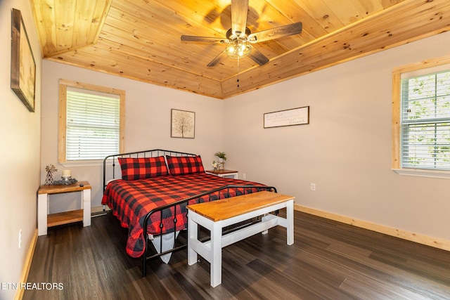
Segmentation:
{"type": "Polygon", "coordinates": [[[450,170],[450,71],[401,79],[401,167],[450,170]]]}

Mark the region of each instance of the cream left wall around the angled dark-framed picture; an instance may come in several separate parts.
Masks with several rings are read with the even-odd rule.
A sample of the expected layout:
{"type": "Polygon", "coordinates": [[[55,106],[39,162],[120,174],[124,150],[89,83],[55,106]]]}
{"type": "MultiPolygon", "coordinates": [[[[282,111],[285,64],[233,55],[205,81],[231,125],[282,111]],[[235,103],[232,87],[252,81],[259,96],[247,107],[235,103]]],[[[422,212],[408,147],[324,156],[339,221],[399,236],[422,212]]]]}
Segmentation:
{"type": "MultiPolygon", "coordinates": [[[[0,283],[18,283],[36,228],[41,127],[41,53],[30,1],[0,1],[0,283]],[[36,111],[30,112],[11,90],[11,9],[22,13],[36,60],[36,111]],[[22,247],[18,247],[22,230],[22,247]]],[[[13,299],[14,289],[0,289],[13,299]]]]}

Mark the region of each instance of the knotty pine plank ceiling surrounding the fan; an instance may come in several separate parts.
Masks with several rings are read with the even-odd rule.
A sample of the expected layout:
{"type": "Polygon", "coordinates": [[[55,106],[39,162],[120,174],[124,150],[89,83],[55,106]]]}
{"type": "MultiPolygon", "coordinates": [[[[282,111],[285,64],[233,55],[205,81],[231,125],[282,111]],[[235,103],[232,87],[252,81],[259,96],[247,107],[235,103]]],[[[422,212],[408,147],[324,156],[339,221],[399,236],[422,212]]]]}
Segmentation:
{"type": "Polygon", "coordinates": [[[302,22],[301,34],[253,44],[270,59],[207,64],[224,44],[231,0],[32,0],[44,59],[214,98],[260,89],[450,30],[449,0],[250,0],[248,28],[302,22]],[[239,78],[239,87],[236,82],[239,78]]]}

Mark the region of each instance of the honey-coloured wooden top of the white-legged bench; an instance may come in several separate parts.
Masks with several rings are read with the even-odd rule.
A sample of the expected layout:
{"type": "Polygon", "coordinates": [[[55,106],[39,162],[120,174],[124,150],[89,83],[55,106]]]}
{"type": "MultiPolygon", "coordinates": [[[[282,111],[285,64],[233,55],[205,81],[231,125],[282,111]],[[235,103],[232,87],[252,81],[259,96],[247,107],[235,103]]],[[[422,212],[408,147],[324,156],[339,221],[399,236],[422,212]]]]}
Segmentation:
{"type": "Polygon", "coordinates": [[[188,205],[188,209],[214,222],[293,200],[295,197],[262,191],[211,202],[188,205]]]}

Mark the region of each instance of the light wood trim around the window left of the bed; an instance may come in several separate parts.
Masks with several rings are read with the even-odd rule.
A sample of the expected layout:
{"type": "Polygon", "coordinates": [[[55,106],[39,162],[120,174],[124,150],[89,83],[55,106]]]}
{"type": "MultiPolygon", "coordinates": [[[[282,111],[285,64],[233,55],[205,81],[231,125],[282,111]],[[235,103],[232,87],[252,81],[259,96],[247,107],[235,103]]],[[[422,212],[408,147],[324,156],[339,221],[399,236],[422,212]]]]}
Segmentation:
{"type": "MultiPolygon", "coordinates": [[[[58,130],[58,162],[63,166],[80,165],[80,164],[100,164],[102,159],[79,159],[67,160],[66,156],[66,126],[67,126],[67,91],[68,88],[82,89],[87,91],[95,91],[100,93],[110,93],[119,96],[120,99],[120,136],[119,136],[119,152],[124,152],[124,133],[125,133],[125,91],[119,89],[108,88],[104,86],[96,86],[94,84],[83,84],[78,81],[70,81],[66,79],[59,80],[59,130],[58,130]]],[[[115,153],[111,153],[115,154],[115,153]]]]}

